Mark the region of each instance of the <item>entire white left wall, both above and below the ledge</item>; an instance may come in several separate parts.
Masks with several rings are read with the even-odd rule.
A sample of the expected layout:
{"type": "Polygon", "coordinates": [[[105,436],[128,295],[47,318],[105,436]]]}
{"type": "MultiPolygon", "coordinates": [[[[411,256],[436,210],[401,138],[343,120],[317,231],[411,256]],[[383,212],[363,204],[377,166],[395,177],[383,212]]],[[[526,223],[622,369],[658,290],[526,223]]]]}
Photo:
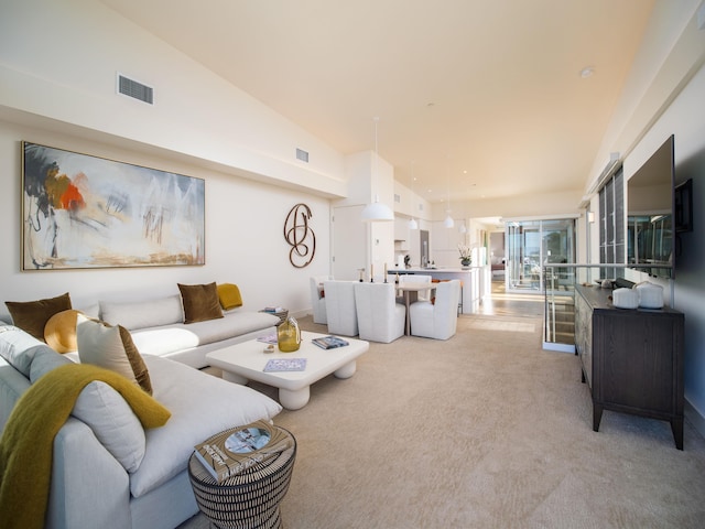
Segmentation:
{"type": "Polygon", "coordinates": [[[1,301],[230,281],[248,309],[310,306],[307,278],[329,273],[328,198],[348,187],[325,142],[95,1],[3,1],[0,87],[1,301]],[[118,95],[118,72],[152,86],[154,106],[118,95]],[[20,272],[21,140],[205,179],[206,266],[20,272]],[[318,245],[304,269],[283,239],[299,202],[318,245]]]}

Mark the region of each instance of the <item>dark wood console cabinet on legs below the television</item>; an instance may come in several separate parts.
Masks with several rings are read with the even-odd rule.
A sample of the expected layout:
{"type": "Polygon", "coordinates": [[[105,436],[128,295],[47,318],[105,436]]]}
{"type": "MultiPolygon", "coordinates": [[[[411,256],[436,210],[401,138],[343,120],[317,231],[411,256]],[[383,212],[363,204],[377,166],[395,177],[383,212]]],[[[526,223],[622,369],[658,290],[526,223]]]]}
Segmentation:
{"type": "Polygon", "coordinates": [[[603,410],[660,419],[683,450],[683,314],[617,309],[611,290],[575,291],[575,349],[593,397],[593,430],[603,410]]]}

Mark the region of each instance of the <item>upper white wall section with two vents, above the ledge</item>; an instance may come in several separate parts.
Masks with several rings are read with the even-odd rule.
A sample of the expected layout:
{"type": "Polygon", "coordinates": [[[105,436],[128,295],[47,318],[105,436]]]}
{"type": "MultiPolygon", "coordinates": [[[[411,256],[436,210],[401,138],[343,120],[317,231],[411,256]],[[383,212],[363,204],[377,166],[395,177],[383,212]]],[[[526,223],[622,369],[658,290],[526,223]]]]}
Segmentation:
{"type": "Polygon", "coordinates": [[[0,119],[42,116],[223,172],[347,193],[339,153],[100,2],[3,1],[0,86],[0,119]],[[152,86],[155,104],[117,94],[117,73],[152,86]]]}

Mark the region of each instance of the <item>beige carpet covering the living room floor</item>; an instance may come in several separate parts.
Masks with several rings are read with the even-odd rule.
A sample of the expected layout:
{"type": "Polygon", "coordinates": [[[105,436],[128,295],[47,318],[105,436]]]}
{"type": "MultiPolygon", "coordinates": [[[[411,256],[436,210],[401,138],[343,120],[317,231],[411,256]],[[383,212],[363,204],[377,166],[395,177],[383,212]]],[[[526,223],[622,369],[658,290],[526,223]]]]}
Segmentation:
{"type": "Polygon", "coordinates": [[[578,358],[543,350],[541,324],[464,315],[448,342],[371,344],[315,384],[275,418],[299,442],[284,527],[705,527],[703,438],[686,421],[679,451],[668,423],[609,411],[593,432],[578,358]]]}

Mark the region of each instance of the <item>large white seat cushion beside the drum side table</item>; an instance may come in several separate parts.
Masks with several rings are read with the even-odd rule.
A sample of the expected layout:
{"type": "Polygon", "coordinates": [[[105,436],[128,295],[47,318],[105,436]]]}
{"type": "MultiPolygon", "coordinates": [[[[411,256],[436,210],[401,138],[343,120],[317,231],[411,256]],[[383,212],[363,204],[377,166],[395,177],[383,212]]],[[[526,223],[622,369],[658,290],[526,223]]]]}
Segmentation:
{"type": "Polygon", "coordinates": [[[153,397],[172,412],[164,428],[148,430],[147,452],[132,474],[134,497],[184,472],[194,446],[210,435],[259,419],[272,419],[282,407],[247,386],[231,384],[177,361],[144,355],[153,397]]]}

